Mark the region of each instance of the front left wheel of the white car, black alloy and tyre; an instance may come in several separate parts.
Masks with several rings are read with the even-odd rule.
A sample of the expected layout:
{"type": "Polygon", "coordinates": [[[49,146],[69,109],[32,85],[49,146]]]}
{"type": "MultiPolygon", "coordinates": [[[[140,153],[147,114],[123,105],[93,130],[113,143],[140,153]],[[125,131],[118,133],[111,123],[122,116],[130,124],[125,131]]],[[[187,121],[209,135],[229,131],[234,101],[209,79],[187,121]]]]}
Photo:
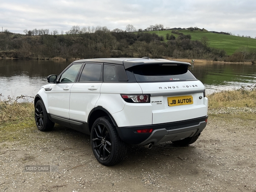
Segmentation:
{"type": "Polygon", "coordinates": [[[50,131],[54,127],[54,122],[47,116],[47,111],[41,100],[35,104],[35,123],[40,131],[50,131]]]}

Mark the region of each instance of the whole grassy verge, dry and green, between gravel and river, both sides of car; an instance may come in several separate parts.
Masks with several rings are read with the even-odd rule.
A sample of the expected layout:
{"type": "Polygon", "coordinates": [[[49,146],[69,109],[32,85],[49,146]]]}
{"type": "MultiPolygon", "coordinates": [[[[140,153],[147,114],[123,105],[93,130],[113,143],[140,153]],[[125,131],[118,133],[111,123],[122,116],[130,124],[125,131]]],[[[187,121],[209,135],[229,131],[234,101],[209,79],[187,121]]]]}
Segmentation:
{"type": "MultiPolygon", "coordinates": [[[[227,123],[239,121],[245,126],[256,119],[256,85],[221,91],[207,97],[209,119],[227,123]]],[[[24,96],[18,99],[24,100],[24,96]]],[[[3,99],[0,94],[0,142],[15,140],[23,129],[36,130],[33,103],[18,102],[17,98],[3,99]]]]}

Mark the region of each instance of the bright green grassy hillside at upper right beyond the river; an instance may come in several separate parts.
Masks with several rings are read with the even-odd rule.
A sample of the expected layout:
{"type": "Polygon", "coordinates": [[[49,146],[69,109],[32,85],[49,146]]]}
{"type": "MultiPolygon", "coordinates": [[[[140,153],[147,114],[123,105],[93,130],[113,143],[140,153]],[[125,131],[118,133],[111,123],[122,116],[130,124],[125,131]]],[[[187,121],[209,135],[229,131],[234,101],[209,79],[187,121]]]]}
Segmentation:
{"type": "MultiPolygon", "coordinates": [[[[202,37],[207,37],[209,40],[209,47],[216,49],[224,49],[227,55],[232,55],[237,49],[241,47],[256,48],[256,39],[238,37],[234,35],[223,35],[218,33],[211,33],[208,31],[189,31],[189,30],[177,30],[184,35],[191,35],[191,40],[201,40],[202,37]]],[[[166,38],[166,34],[174,35],[176,38],[177,34],[171,33],[172,30],[168,31],[153,31],[158,35],[162,35],[166,38]]],[[[150,33],[153,33],[150,32],[150,33]]]]}

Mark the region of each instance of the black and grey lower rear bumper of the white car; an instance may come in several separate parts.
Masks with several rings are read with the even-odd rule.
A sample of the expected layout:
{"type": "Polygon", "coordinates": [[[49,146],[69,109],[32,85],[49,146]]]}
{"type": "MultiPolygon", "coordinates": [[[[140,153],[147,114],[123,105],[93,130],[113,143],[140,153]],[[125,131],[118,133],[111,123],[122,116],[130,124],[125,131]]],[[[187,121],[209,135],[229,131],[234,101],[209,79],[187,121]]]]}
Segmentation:
{"type": "Polygon", "coordinates": [[[147,145],[167,141],[177,141],[186,137],[193,137],[201,133],[207,125],[208,116],[189,119],[186,121],[163,123],[157,125],[143,125],[132,127],[117,127],[119,137],[129,144],[147,145]],[[138,129],[153,129],[152,133],[137,133],[138,129]]]}

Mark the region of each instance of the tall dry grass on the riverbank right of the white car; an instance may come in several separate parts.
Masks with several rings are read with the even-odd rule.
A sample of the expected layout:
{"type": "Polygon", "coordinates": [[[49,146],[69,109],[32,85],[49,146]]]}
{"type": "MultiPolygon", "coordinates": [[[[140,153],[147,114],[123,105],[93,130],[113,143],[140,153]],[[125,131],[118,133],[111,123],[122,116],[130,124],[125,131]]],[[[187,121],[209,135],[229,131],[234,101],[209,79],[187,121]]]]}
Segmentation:
{"type": "Polygon", "coordinates": [[[207,96],[209,108],[256,107],[256,84],[207,96]]]}

